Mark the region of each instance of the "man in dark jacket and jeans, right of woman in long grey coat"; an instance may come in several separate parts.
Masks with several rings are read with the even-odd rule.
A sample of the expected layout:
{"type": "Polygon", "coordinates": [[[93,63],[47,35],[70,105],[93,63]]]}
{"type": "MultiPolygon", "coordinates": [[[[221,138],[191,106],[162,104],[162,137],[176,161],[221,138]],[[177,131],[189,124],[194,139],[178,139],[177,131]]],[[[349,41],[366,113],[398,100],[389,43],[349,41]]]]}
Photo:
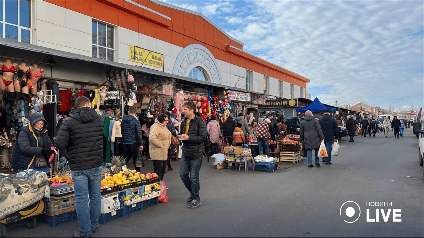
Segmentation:
{"type": "Polygon", "coordinates": [[[329,110],[324,112],[324,116],[318,120],[319,125],[321,125],[322,133],[324,134],[324,144],[325,149],[327,150],[327,157],[322,158],[322,163],[332,164],[331,163],[331,151],[332,145],[335,141],[339,139],[339,127],[337,121],[331,117],[329,110]]]}

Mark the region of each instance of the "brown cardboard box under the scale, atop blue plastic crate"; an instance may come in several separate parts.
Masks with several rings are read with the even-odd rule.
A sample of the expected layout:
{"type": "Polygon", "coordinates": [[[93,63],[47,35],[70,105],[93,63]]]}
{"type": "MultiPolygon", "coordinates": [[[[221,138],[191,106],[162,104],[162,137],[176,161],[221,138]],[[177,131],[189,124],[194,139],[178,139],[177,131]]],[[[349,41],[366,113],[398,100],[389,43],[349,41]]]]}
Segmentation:
{"type": "Polygon", "coordinates": [[[61,197],[50,196],[50,200],[47,200],[46,204],[46,215],[56,216],[59,214],[75,211],[75,209],[75,194],[68,194],[61,197]]]}

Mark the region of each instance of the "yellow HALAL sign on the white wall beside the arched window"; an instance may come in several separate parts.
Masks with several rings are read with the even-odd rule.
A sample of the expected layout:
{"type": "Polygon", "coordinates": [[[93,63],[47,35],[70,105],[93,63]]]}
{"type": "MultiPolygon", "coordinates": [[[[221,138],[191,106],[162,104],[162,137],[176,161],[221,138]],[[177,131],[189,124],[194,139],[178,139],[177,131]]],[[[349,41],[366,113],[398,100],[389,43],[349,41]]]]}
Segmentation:
{"type": "Polygon", "coordinates": [[[163,55],[143,48],[129,46],[129,60],[163,69],[163,55]]]}

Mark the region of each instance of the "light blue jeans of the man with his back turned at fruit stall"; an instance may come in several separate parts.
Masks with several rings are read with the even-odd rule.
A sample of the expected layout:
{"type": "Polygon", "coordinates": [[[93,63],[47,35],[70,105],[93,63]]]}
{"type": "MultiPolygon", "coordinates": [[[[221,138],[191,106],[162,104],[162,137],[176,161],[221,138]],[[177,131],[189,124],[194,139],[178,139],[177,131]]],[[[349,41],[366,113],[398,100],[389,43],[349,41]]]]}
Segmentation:
{"type": "Polygon", "coordinates": [[[99,223],[102,167],[72,170],[79,230],[83,235],[91,235],[99,223]]]}

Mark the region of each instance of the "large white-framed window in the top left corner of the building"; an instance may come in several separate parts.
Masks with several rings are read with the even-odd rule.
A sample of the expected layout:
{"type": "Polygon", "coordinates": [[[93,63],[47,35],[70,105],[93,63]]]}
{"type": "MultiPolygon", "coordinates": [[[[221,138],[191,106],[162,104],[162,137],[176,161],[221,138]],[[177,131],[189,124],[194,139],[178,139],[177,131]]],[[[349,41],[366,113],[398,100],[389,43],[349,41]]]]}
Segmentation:
{"type": "Polygon", "coordinates": [[[31,1],[0,1],[1,38],[31,44],[31,1]]]}

